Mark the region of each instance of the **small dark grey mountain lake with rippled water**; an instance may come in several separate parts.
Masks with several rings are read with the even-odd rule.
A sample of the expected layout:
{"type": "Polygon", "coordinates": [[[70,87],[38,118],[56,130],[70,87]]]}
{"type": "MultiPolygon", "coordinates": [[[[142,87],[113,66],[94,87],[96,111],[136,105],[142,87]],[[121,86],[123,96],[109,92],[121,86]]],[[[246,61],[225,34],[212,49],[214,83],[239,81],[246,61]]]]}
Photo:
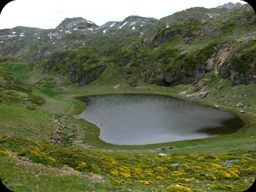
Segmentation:
{"type": "Polygon", "coordinates": [[[145,145],[230,134],[242,120],[168,96],[126,94],[81,97],[81,117],[100,127],[100,139],[117,145],[145,145]]]}

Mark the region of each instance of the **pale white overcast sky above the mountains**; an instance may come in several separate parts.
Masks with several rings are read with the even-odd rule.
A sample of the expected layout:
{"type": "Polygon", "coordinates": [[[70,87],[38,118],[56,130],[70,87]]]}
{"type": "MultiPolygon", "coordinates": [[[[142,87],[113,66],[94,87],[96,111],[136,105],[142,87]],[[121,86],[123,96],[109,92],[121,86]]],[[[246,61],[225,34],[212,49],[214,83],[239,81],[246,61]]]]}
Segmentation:
{"type": "Polygon", "coordinates": [[[137,15],[160,19],[191,7],[214,8],[239,0],[16,0],[1,11],[0,29],[17,26],[55,28],[65,18],[82,17],[101,26],[137,15]]]}

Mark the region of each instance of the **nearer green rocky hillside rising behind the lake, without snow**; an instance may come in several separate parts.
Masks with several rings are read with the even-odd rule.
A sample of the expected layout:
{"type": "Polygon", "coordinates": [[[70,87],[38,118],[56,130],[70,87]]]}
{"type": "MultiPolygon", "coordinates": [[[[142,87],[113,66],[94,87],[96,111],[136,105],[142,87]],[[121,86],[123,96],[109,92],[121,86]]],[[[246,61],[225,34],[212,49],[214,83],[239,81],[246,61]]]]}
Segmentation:
{"type": "Polygon", "coordinates": [[[255,31],[253,9],[240,9],[215,22],[172,24],[154,36],[119,45],[57,52],[38,70],[78,86],[110,78],[109,73],[113,78],[115,70],[133,86],[140,80],[175,86],[211,73],[234,83],[254,83],[255,31]]]}

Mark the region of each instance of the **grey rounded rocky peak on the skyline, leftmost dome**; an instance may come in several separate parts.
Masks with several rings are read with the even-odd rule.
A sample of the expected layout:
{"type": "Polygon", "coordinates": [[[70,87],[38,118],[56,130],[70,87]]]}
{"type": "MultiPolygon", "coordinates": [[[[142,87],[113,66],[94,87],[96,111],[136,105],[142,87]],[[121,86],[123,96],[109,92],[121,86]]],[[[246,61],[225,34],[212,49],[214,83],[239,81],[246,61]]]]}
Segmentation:
{"type": "Polygon", "coordinates": [[[87,21],[82,17],[65,18],[56,29],[69,29],[69,28],[96,28],[97,24],[87,21]]]}

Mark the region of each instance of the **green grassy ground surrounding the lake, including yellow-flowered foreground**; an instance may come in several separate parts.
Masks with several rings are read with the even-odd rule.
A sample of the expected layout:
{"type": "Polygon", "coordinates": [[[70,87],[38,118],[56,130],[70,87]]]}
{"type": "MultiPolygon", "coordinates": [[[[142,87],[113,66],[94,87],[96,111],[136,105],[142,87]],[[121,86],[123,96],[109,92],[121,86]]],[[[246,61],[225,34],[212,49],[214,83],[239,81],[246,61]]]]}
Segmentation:
{"type": "MultiPolygon", "coordinates": [[[[251,91],[255,88],[254,84],[234,86],[228,80],[219,79],[214,75],[206,77],[208,84],[205,88],[212,94],[198,102],[213,105],[213,102],[223,98],[223,95],[230,97],[236,94],[239,98],[244,93],[247,93],[249,99],[252,97],[250,101],[253,105],[246,109],[246,114],[239,114],[238,107],[219,102],[221,109],[232,111],[245,121],[243,129],[235,134],[166,144],[118,146],[106,144],[98,139],[100,130],[95,125],[73,117],[80,114],[86,106],[74,99],[85,95],[84,88],[76,87],[76,91],[72,93],[46,92],[43,88],[24,80],[19,87],[15,87],[14,81],[21,78],[19,74],[1,77],[2,82],[13,87],[13,95],[16,94],[15,96],[20,98],[15,102],[11,101],[13,97],[2,90],[4,96],[7,92],[8,98],[4,97],[6,99],[0,105],[0,177],[10,190],[244,191],[254,181],[255,139],[251,138],[255,134],[256,103],[253,100],[254,92],[251,91]],[[10,76],[13,78],[8,78],[10,76]],[[209,79],[212,81],[209,82],[209,79]],[[220,84],[224,88],[218,90],[216,86],[220,84]],[[26,92],[22,87],[30,87],[31,91],[26,92]],[[38,95],[36,98],[44,101],[44,104],[31,102],[30,95],[38,95]],[[64,113],[61,119],[69,118],[67,125],[76,124],[78,130],[87,126],[87,132],[93,131],[95,135],[89,134],[86,144],[83,144],[81,141],[85,135],[78,131],[80,136],[71,144],[68,139],[65,140],[68,145],[51,144],[49,140],[58,136],[55,131],[61,131],[60,127],[54,124],[56,117],[53,115],[61,112],[64,113]],[[88,149],[89,142],[93,146],[92,149],[88,149]],[[174,146],[174,149],[161,151],[163,146],[174,146]],[[168,155],[160,156],[160,152],[168,155]],[[173,164],[179,166],[174,168],[171,166],[173,164]]],[[[87,86],[87,92],[113,93],[107,90],[111,90],[115,84],[106,85],[99,91],[99,87],[93,85],[94,83],[97,82],[87,86]]],[[[120,85],[125,88],[120,88],[114,93],[135,92],[132,87],[126,88],[125,82],[120,85]]],[[[193,85],[179,85],[168,90],[166,87],[147,84],[145,86],[152,86],[154,90],[144,93],[175,96],[181,91],[189,90],[193,85]]],[[[4,88],[3,86],[2,89],[4,88]]],[[[72,129],[67,130],[66,134],[71,132],[72,129]]]]}

